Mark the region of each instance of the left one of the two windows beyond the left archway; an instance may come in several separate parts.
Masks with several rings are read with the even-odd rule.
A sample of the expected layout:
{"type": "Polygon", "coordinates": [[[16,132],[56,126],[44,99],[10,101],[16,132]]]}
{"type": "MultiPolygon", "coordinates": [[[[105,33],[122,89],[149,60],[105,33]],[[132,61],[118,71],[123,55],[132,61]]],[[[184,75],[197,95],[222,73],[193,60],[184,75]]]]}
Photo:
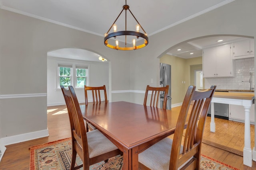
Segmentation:
{"type": "Polygon", "coordinates": [[[71,85],[72,65],[58,64],[60,85],[68,87],[71,85]]]}

